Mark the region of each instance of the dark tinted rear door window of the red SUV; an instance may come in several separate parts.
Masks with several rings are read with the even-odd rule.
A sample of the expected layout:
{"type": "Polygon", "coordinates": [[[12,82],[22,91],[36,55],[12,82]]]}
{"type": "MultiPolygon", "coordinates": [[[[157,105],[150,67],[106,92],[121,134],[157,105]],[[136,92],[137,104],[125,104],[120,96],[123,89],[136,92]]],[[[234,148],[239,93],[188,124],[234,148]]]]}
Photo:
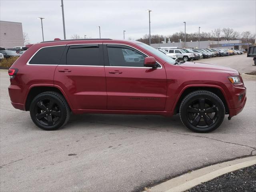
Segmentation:
{"type": "Polygon", "coordinates": [[[99,45],[70,46],[67,53],[67,65],[103,66],[99,45]]]}

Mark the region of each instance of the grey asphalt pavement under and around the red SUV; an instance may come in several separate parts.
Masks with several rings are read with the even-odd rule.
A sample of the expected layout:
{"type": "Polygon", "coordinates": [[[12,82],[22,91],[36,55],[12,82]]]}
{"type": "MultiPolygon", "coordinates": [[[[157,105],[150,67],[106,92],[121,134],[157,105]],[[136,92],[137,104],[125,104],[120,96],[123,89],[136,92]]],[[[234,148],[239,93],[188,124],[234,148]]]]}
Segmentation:
{"type": "Polygon", "coordinates": [[[64,128],[49,132],[37,128],[29,112],[11,106],[9,77],[0,72],[0,191],[139,191],[256,154],[256,82],[244,83],[244,110],[231,121],[226,116],[211,133],[188,130],[178,115],[110,114],[73,115],[64,128]]]}

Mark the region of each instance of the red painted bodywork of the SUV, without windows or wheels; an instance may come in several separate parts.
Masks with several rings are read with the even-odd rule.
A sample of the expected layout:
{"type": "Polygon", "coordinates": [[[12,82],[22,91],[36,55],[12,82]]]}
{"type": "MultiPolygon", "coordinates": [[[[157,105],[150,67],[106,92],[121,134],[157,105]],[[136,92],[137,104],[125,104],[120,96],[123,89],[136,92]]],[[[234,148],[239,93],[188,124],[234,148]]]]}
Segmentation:
{"type": "Polygon", "coordinates": [[[18,73],[11,79],[9,95],[12,105],[25,110],[26,98],[34,86],[56,87],[74,113],[159,114],[171,116],[182,93],[190,87],[218,88],[229,108],[230,116],[238,114],[246,102],[246,88],[235,87],[228,76],[238,76],[231,68],[186,62],[168,64],[144,50],[138,42],[123,40],[73,40],[32,45],[12,68],[18,73]],[[37,50],[45,46],[70,44],[123,44],[152,56],[162,68],[104,66],[65,66],[64,64],[27,65],[37,50]],[[60,72],[59,70],[68,70],[60,72]],[[110,71],[122,73],[109,73],[110,71]],[[239,96],[243,95],[239,100],[239,96]]]}

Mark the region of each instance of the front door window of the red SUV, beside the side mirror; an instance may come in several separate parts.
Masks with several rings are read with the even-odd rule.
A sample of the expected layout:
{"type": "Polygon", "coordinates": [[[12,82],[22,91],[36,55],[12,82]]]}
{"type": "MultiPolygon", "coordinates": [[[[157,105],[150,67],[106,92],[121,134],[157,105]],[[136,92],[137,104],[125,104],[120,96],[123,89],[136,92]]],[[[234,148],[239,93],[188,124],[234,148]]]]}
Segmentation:
{"type": "Polygon", "coordinates": [[[108,47],[110,66],[144,67],[146,56],[140,52],[124,47],[108,47]]]}

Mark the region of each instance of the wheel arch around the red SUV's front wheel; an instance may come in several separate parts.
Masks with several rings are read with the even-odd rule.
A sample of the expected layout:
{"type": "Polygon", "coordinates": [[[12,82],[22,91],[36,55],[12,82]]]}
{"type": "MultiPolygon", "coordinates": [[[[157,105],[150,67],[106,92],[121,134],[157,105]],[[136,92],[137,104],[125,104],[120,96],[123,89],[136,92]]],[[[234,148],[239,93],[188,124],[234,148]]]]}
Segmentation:
{"type": "Polygon", "coordinates": [[[229,114],[230,103],[227,100],[226,93],[220,86],[215,86],[215,85],[188,85],[184,87],[180,92],[180,94],[178,95],[175,101],[175,104],[172,108],[172,111],[174,112],[174,114],[179,113],[180,104],[182,100],[186,97],[186,95],[197,90],[207,90],[216,94],[222,100],[225,106],[226,114],[229,114]]]}

